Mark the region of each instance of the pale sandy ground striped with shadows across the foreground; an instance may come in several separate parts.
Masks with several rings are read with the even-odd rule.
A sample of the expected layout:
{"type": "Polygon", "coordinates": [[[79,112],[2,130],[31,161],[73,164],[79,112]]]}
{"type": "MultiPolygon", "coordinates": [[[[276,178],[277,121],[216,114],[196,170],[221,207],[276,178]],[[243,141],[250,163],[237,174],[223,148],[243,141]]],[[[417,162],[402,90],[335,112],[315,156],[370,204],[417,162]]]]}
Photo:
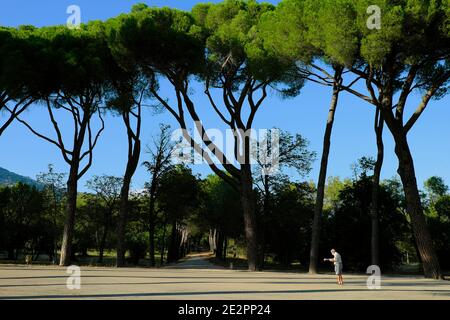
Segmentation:
{"type": "Polygon", "coordinates": [[[0,265],[0,299],[224,299],[224,300],[450,300],[450,281],[383,276],[369,290],[368,275],[248,272],[211,265],[204,255],[161,269],[81,268],[81,288],[69,290],[66,268],[0,265]]]}

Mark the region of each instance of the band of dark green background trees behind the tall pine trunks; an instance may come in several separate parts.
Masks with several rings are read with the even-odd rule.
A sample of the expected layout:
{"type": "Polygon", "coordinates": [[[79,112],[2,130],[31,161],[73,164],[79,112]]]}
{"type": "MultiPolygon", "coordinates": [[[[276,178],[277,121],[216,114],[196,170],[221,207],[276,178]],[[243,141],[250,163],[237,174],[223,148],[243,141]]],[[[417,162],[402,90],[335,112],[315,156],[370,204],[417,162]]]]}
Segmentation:
{"type": "MultiPolygon", "coordinates": [[[[112,177],[97,179],[108,180],[112,177]]],[[[335,247],[344,257],[346,270],[364,272],[370,264],[370,176],[339,181],[334,178],[327,184],[328,205],[323,217],[321,254],[327,256],[328,249],[335,247]],[[355,243],[358,245],[355,246],[355,243]]],[[[215,175],[199,179],[184,167],[169,170],[161,177],[160,183],[155,240],[158,255],[164,247],[164,262],[181,258],[191,250],[210,248],[220,259],[241,252],[244,226],[239,196],[228,184],[215,175]],[[178,200],[174,199],[174,193],[182,196],[178,200]],[[183,239],[183,233],[186,232],[188,238],[183,239]],[[214,238],[210,239],[211,236],[214,238]]],[[[64,199],[56,199],[55,202],[50,186],[40,191],[18,184],[0,190],[0,251],[5,252],[5,259],[22,260],[25,255],[32,255],[40,261],[54,259],[54,250],[61,242],[61,206],[64,199]]],[[[302,267],[307,265],[314,192],[314,187],[308,183],[284,181],[276,184],[271,192],[270,208],[265,211],[265,215],[262,215],[264,197],[261,195],[259,198],[261,216],[258,219],[265,229],[267,263],[283,267],[293,263],[299,263],[302,267]]],[[[429,192],[425,195],[430,199],[434,197],[429,192]]],[[[111,197],[110,200],[108,204],[107,198],[99,193],[80,195],[74,260],[98,263],[98,256],[89,258],[92,252],[98,254],[104,250],[106,255],[114,250],[116,234],[113,230],[117,224],[118,199],[111,197]],[[105,226],[109,226],[110,232],[106,234],[103,248],[100,248],[105,226]]],[[[131,197],[126,244],[128,261],[132,264],[146,264],[143,259],[148,256],[148,206],[148,193],[131,197]]],[[[405,212],[399,182],[384,181],[380,186],[379,207],[383,270],[395,270],[406,263],[407,257],[409,262],[418,262],[405,212]]],[[[427,220],[445,268],[450,266],[447,245],[450,237],[449,215],[448,193],[429,202],[427,220]]],[[[108,258],[105,258],[104,263],[113,264],[108,258]]],[[[326,267],[326,264],[322,265],[322,268],[326,267]]]]}

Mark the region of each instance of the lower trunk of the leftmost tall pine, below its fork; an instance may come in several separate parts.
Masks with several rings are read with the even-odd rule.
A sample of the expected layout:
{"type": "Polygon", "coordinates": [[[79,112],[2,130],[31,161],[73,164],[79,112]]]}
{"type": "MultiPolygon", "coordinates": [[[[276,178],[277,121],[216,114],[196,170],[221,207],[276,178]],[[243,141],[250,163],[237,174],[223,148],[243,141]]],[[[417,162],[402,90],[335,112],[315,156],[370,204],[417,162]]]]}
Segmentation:
{"type": "Polygon", "coordinates": [[[75,228],[75,213],[77,207],[78,166],[79,164],[75,162],[71,165],[69,179],[67,181],[66,220],[61,245],[61,257],[59,260],[60,266],[70,265],[72,254],[72,239],[75,228]]]}

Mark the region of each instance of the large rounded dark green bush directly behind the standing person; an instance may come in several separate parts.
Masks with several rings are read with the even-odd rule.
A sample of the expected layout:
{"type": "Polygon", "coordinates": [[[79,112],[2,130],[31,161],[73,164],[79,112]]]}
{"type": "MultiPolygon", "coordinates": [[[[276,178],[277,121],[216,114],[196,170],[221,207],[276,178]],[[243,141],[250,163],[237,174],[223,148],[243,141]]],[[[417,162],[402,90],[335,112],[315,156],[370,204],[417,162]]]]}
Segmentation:
{"type": "MultiPolygon", "coordinates": [[[[339,192],[337,203],[327,212],[324,218],[325,235],[329,241],[326,248],[336,246],[346,253],[347,268],[364,271],[370,265],[370,203],[372,183],[368,177],[362,177],[339,192]],[[360,245],[355,246],[355,243],[360,245]]],[[[380,223],[380,267],[392,270],[402,262],[398,243],[409,242],[410,230],[401,210],[400,199],[388,186],[381,185],[379,191],[379,223],[380,223]]],[[[410,252],[411,255],[415,253],[410,252]]]]}

